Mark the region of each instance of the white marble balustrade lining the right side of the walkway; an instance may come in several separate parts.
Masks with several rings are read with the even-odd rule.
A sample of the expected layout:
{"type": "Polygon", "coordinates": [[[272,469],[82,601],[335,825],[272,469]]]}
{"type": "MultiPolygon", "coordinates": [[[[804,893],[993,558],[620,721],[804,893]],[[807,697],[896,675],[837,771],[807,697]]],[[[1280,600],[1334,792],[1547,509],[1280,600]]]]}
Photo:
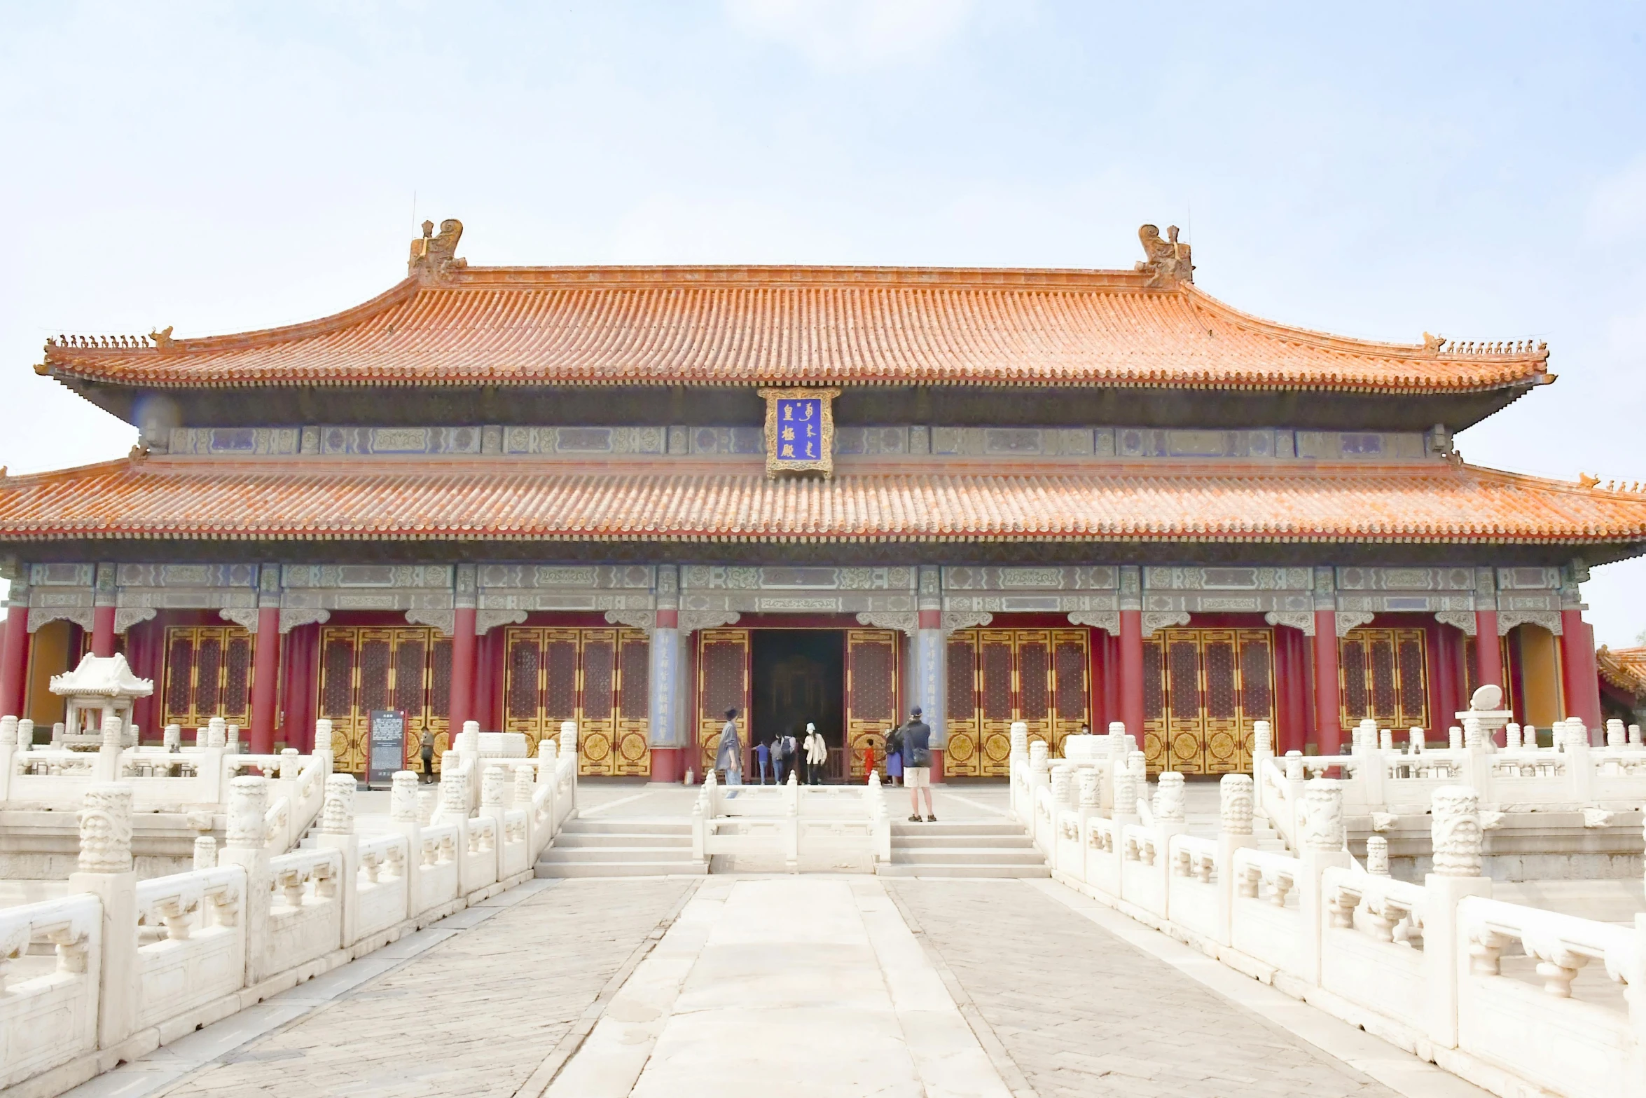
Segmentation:
{"type": "MultiPolygon", "coordinates": [[[[1585,749],[1587,737],[1567,742],[1562,761],[1585,749]]],[[[1514,754],[1478,739],[1470,751],[1514,754]]],[[[1422,884],[1386,876],[1381,840],[1368,848],[1378,871],[1363,868],[1345,843],[1345,802],[1351,767],[1373,754],[1310,761],[1348,764],[1343,780],[1304,779],[1287,759],[1286,795],[1266,805],[1251,777],[1225,775],[1211,838],[1183,831],[1179,775],[1103,807],[1100,782],[1132,789],[1119,749],[1103,765],[1049,761],[1014,729],[1012,812],[1058,881],[1485,1090],[1646,1096],[1646,914],[1625,927],[1493,900],[1483,798],[1458,782],[1429,792],[1434,872],[1422,884]],[[1292,853],[1256,848],[1266,807],[1289,813],[1292,853]]],[[[1274,772],[1259,767],[1258,785],[1274,772]]]]}

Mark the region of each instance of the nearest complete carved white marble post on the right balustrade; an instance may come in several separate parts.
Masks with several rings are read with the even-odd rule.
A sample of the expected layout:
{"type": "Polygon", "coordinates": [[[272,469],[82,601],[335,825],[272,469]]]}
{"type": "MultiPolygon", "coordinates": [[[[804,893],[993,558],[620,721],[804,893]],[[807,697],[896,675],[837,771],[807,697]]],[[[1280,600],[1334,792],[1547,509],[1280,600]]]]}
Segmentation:
{"type": "Polygon", "coordinates": [[[1457,1047],[1458,933],[1457,905],[1465,896],[1491,896],[1483,876],[1485,831],[1480,792],[1442,785],[1429,802],[1434,869],[1424,877],[1425,1029],[1442,1049],[1457,1047]]]}

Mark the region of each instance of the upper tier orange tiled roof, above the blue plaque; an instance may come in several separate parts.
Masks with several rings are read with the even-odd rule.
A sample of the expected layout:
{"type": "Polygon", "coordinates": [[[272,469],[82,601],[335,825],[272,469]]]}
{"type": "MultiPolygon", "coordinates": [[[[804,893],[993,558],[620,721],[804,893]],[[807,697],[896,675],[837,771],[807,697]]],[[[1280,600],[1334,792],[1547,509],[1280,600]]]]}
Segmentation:
{"type": "MultiPolygon", "coordinates": [[[[170,331],[170,329],[168,329],[170,331]]],[[[84,339],[71,342],[86,342],[84,339]]],[[[133,341],[137,342],[137,341],[133,341]]],[[[1286,328],[1136,272],[467,267],[324,319],[158,347],[54,342],[43,374],[222,385],[1118,385],[1478,392],[1552,380],[1529,342],[1286,328]]]]}

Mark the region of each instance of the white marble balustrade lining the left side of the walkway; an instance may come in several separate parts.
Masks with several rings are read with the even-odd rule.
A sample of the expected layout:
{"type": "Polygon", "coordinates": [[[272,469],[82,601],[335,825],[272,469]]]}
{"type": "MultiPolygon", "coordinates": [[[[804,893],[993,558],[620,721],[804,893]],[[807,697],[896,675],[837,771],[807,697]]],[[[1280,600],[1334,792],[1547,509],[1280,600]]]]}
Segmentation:
{"type": "Polygon", "coordinates": [[[224,848],[202,836],[194,869],[148,881],[132,863],[140,779],[86,784],[71,894],[0,909],[0,1088],[56,1095],[530,877],[576,815],[576,729],[537,759],[476,739],[446,756],[433,812],[402,770],[365,833],[329,756],[240,756],[224,848]],[[311,798],[313,833],[283,849],[273,836],[300,835],[311,798]]]}

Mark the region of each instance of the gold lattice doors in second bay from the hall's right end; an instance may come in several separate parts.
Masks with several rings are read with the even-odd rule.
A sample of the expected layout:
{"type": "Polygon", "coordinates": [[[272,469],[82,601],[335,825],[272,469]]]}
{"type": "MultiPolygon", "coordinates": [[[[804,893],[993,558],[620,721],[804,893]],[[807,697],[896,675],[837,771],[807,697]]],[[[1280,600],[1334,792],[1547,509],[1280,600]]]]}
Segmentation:
{"type": "Polygon", "coordinates": [[[1251,765],[1258,721],[1274,719],[1274,634],[1165,629],[1142,647],[1151,770],[1233,774],[1251,765]]]}

